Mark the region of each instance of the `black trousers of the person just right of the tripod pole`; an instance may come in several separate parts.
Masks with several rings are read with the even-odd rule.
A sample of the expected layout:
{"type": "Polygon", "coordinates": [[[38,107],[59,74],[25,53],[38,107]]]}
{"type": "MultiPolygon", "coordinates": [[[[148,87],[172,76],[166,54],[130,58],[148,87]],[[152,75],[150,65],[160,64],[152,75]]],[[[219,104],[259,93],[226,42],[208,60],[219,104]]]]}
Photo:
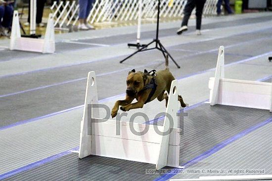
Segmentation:
{"type": "Polygon", "coordinates": [[[206,0],[188,0],[184,7],[184,17],[181,23],[181,26],[187,26],[189,17],[192,13],[194,7],[196,7],[196,29],[201,29],[201,19],[202,19],[202,11],[204,8],[206,0]]]}

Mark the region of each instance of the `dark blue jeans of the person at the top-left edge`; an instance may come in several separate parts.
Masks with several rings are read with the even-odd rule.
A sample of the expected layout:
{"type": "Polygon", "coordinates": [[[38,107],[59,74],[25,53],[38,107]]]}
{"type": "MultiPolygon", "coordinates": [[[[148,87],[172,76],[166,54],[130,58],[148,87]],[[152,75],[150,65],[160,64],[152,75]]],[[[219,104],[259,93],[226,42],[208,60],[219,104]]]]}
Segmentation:
{"type": "Polygon", "coordinates": [[[9,28],[13,15],[12,5],[0,5],[0,26],[9,28]],[[1,19],[3,20],[1,21],[1,19]]]}

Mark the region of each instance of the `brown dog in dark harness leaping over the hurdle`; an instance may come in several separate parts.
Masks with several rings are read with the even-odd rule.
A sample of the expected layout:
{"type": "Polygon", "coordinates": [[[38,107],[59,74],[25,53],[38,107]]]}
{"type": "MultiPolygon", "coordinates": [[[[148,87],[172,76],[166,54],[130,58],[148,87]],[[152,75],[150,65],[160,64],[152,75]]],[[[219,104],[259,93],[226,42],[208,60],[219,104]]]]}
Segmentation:
{"type": "MultiPolygon", "coordinates": [[[[168,65],[168,60],[166,60],[168,65]]],[[[152,71],[151,71],[152,72],[152,71]]],[[[175,77],[169,71],[168,66],[165,70],[158,72],[153,71],[154,75],[144,70],[144,72],[136,72],[135,69],[129,72],[127,77],[127,95],[125,100],[116,101],[113,109],[111,110],[111,116],[115,117],[119,106],[121,110],[128,111],[130,109],[142,108],[144,104],[153,101],[157,98],[159,101],[166,100],[166,106],[168,101],[168,95],[165,91],[170,93],[171,82],[175,80],[175,77]],[[136,99],[136,103],[132,101],[136,99]]],[[[179,101],[181,107],[186,107],[182,97],[179,95],[179,101]]]]}

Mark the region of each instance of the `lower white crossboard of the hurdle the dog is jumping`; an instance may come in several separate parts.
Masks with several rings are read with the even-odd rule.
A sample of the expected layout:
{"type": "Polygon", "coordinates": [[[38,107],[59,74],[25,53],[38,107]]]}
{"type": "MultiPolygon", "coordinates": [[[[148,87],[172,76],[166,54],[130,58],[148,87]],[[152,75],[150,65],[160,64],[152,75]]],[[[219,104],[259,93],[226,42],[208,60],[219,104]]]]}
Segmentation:
{"type": "MultiPolygon", "coordinates": [[[[160,144],[104,137],[99,135],[93,135],[91,137],[91,142],[92,155],[150,164],[156,164],[159,156],[159,152],[156,150],[160,149],[160,144]]],[[[177,155],[177,153],[180,151],[180,146],[169,145],[169,149],[171,154],[177,155]]],[[[176,166],[177,161],[175,159],[177,159],[177,157],[173,157],[171,160],[169,160],[168,164],[176,166]]]]}

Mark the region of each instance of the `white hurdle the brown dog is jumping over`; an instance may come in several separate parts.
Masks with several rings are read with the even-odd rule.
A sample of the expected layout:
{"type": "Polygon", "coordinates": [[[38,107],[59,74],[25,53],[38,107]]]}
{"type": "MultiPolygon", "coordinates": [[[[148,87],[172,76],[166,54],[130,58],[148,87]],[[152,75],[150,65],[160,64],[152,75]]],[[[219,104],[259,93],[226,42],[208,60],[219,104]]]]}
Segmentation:
{"type": "Polygon", "coordinates": [[[155,164],[156,169],[161,169],[164,166],[180,167],[181,131],[178,128],[178,117],[176,115],[180,108],[178,87],[178,80],[173,80],[166,109],[169,117],[172,117],[171,119],[174,121],[173,130],[170,134],[161,135],[157,134],[156,128],[160,132],[166,132],[170,128],[168,116],[165,116],[163,126],[154,126],[101,119],[98,118],[98,109],[92,108],[88,120],[88,104],[98,104],[95,72],[89,72],[81,122],[79,158],[97,155],[155,164]],[[117,126],[120,127],[120,134],[116,133],[117,126]],[[148,128],[148,131],[139,136],[131,131],[130,126],[133,126],[136,132],[142,132],[146,128],[148,128]]]}

